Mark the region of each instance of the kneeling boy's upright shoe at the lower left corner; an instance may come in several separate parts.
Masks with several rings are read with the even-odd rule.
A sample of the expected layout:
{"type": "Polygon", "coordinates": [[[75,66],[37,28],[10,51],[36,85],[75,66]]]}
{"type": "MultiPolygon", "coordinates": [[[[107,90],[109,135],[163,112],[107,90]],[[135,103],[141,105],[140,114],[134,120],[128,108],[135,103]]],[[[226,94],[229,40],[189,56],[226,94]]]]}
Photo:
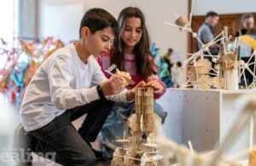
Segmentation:
{"type": "Polygon", "coordinates": [[[12,157],[16,163],[32,163],[31,153],[28,135],[20,123],[15,129],[12,157]]]}

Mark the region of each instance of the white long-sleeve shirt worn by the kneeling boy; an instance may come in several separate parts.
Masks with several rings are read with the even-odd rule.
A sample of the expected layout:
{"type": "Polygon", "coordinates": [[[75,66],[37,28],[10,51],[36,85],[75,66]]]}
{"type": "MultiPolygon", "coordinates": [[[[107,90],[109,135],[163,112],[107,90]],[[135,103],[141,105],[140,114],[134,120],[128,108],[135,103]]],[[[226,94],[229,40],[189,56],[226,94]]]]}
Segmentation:
{"type": "MultiPolygon", "coordinates": [[[[25,130],[39,129],[67,109],[98,100],[96,85],[105,80],[95,58],[91,55],[84,64],[73,43],[56,50],[38,68],[26,89],[20,108],[25,130]]],[[[106,98],[127,101],[126,89],[106,98]]]]}

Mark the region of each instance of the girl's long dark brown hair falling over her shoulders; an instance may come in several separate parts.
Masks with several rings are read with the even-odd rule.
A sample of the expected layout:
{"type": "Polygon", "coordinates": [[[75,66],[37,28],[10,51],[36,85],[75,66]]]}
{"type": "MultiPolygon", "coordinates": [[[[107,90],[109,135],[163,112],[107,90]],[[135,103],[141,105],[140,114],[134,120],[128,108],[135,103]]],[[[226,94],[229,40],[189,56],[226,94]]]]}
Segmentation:
{"type": "Polygon", "coordinates": [[[136,44],[133,52],[135,54],[137,74],[141,75],[145,80],[147,80],[149,76],[156,74],[156,72],[153,69],[153,57],[149,57],[152,56],[149,49],[150,38],[145,25],[143,12],[140,9],[128,7],[120,12],[118,19],[119,30],[113,41],[113,53],[110,61],[111,64],[115,64],[121,71],[125,71],[125,43],[123,42],[121,36],[125,29],[125,21],[131,17],[136,17],[141,20],[143,34],[140,41],[136,44]]]}

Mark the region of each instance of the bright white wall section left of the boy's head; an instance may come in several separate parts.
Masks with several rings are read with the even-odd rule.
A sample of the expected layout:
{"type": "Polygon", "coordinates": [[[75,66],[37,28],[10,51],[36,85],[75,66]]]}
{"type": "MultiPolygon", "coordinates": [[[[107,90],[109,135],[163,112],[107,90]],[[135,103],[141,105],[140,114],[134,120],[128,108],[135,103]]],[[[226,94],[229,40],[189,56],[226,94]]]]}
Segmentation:
{"type": "Polygon", "coordinates": [[[85,5],[83,0],[38,1],[38,37],[57,37],[64,43],[78,39],[85,5]]]}

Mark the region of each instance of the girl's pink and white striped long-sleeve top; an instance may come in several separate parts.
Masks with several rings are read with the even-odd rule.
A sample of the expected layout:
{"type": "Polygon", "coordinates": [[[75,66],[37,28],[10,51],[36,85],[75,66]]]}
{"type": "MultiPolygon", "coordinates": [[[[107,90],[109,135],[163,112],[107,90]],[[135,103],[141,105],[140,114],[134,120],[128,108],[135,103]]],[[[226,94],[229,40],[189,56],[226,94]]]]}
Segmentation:
{"type": "MultiPolygon", "coordinates": [[[[110,54],[111,50],[109,50],[106,54],[103,54],[102,57],[97,59],[100,66],[102,66],[102,72],[104,72],[106,77],[109,77],[109,74],[105,72],[105,70],[110,67],[110,54]]],[[[152,59],[152,62],[154,64],[153,58],[151,56],[148,56],[148,58],[152,59]]],[[[153,67],[155,68],[155,66],[153,67]]],[[[146,81],[136,72],[137,67],[135,61],[135,54],[125,54],[125,70],[126,72],[129,72],[131,74],[131,79],[135,82],[134,85],[128,85],[127,89],[132,89],[137,85],[137,83],[140,83],[141,81],[146,81]]],[[[157,77],[156,75],[148,77],[148,82],[151,80],[157,80],[164,87],[164,90],[161,94],[154,94],[154,99],[159,99],[162,94],[166,93],[166,83],[160,81],[159,77],[157,77]]]]}

